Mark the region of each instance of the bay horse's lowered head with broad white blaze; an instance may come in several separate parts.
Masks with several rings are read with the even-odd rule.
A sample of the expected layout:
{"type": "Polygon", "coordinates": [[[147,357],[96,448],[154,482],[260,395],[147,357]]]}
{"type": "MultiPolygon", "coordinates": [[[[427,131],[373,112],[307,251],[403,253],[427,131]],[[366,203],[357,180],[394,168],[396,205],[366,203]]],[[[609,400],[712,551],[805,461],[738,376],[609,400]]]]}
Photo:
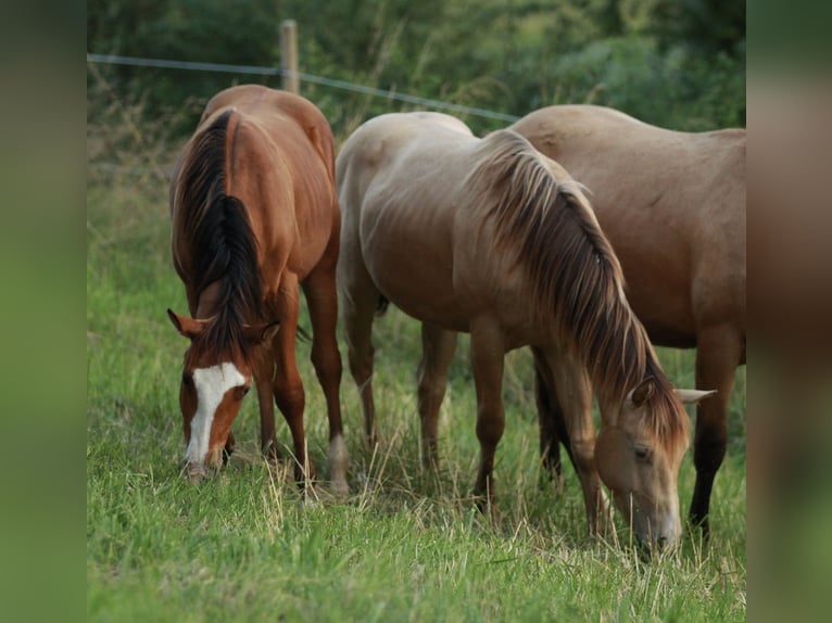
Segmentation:
{"type": "Polygon", "coordinates": [[[243,325],[240,341],[216,348],[212,319],[193,319],[167,310],[176,330],[190,340],[185,352],[179,406],[187,447],[184,471],[193,482],[219,467],[231,423],[252,384],[253,347],[270,342],[277,322],[243,325]]]}

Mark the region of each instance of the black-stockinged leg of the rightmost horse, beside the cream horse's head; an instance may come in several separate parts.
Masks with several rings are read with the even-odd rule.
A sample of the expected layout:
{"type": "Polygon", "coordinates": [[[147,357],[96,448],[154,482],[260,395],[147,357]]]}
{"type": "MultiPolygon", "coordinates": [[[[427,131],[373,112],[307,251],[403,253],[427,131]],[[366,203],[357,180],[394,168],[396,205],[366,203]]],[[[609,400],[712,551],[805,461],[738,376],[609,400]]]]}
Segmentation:
{"type": "Polygon", "coordinates": [[[690,519],[708,536],[710,493],[714,478],[726,456],[728,442],[728,405],[731,399],[736,366],[743,353],[742,335],[732,327],[718,327],[696,335],[696,387],[717,390],[696,408],[696,433],[693,463],[696,484],[693,490],[690,519]]]}

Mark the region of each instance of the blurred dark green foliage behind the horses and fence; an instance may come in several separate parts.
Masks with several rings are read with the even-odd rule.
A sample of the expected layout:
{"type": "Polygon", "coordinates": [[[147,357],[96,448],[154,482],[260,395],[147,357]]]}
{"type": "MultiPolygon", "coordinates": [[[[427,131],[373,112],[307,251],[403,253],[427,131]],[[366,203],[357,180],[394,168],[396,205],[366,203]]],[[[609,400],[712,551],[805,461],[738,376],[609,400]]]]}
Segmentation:
{"type": "MultiPolygon", "coordinates": [[[[741,0],[89,0],[87,50],[277,67],[288,18],[298,23],[307,74],[518,116],[596,103],[675,129],[745,125],[741,0]]],[[[153,117],[204,103],[230,84],[280,86],[279,77],[102,65],[88,92],[99,78],[153,117]]],[[[403,109],[301,88],[336,134],[403,109]]],[[[464,120],[477,132],[502,125],[464,120]]]]}

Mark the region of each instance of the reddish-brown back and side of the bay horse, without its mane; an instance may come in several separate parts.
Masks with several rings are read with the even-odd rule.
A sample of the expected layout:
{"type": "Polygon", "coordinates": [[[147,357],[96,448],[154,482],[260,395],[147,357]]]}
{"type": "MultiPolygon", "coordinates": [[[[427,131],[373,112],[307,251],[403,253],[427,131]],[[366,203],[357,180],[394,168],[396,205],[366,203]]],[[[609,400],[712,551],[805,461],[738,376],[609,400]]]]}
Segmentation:
{"type": "Polygon", "coordinates": [[[338,250],[329,124],[304,98],[245,85],[215,96],[200,127],[226,111],[226,193],[247,207],[264,275],[286,267],[302,280],[327,249],[338,250]]]}

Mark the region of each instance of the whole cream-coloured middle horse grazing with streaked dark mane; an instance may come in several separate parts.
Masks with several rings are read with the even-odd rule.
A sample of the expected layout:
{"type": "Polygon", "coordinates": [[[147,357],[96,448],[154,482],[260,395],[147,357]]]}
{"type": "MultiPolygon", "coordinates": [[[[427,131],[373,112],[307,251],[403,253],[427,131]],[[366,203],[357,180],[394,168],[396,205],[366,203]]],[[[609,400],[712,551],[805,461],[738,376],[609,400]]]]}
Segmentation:
{"type": "MultiPolygon", "coordinates": [[[[377,309],[389,301],[423,322],[418,409],[429,465],[456,332],[469,332],[480,442],[475,494],[491,503],[504,355],[532,345],[559,385],[580,383],[588,366],[603,410],[601,478],[641,541],[676,539],[688,415],[630,310],[618,259],[580,185],[516,132],[478,139],[439,113],[365,123],[336,171],[339,293],[368,436],[376,430],[377,309]]],[[[585,412],[567,412],[567,427],[595,530],[603,504],[595,435],[589,405],[579,406],[585,412]]]]}

